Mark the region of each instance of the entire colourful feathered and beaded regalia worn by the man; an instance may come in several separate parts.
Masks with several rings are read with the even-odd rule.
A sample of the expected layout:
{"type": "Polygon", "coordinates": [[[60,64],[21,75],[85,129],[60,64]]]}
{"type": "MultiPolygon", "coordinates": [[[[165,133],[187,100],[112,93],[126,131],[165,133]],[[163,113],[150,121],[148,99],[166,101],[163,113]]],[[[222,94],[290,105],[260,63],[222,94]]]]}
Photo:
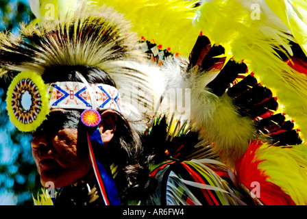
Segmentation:
{"type": "MultiPolygon", "coordinates": [[[[103,164],[101,140],[88,131],[96,178],[62,188],[53,204],[306,205],[307,3],[30,3],[36,20],[20,36],[0,35],[1,75],[21,72],[8,91],[13,123],[35,130],[50,109],[69,103],[97,127],[95,110],[118,110],[138,121],[132,129],[149,162],[143,195],[123,201],[116,166],[103,164]],[[116,88],[82,76],[40,78],[61,66],[101,68],[116,88]]],[[[43,203],[51,204],[48,194],[38,196],[43,203]]]]}

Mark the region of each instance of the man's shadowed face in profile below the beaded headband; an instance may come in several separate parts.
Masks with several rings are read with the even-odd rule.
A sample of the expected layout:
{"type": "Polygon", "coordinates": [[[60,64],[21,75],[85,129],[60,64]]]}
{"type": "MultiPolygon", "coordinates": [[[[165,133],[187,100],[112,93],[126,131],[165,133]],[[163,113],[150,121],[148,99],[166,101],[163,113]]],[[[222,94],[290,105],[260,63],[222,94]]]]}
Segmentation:
{"type": "Polygon", "coordinates": [[[32,154],[43,186],[48,181],[56,188],[70,185],[92,168],[86,133],[67,123],[68,120],[77,121],[77,118],[70,118],[62,111],[51,112],[33,133],[32,154]]]}

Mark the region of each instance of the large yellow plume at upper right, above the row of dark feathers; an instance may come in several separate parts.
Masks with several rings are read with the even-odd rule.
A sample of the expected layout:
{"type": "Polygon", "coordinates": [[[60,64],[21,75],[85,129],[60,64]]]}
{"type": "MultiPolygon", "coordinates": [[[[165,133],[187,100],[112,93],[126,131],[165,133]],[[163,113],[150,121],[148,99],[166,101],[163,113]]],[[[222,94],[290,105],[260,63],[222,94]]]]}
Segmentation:
{"type": "Polygon", "coordinates": [[[275,51],[293,55],[290,42],[297,40],[265,1],[203,1],[194,23],[212,43],[222,44],[236,62],[245,60],[249,70],[278,96],[284,112],[295,120],[304,138],[307,77],[284,63],[275,51]],[[254,7],[258,7],[260,18],[254,7]]]}

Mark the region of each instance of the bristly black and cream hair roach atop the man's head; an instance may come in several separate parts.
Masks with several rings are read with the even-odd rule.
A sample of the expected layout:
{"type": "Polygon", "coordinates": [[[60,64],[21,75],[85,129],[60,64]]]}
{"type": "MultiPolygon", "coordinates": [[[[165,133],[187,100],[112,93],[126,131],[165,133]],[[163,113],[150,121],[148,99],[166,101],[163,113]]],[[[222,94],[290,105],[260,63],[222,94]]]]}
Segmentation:
{"type": "Polygon", "coordinates": [[[158,67],[150,66],[130,24],[111,8],[84,5],[64,20],[42,19],[37,25],[22,25],[20,36],[1,33],[0,39],[1,75],[12,70],[43,75],[55,66],[96,66],[116,82],[127,119],[150,118],[154,101],[164,90],[163,78],[156,79],[158,67]]]}

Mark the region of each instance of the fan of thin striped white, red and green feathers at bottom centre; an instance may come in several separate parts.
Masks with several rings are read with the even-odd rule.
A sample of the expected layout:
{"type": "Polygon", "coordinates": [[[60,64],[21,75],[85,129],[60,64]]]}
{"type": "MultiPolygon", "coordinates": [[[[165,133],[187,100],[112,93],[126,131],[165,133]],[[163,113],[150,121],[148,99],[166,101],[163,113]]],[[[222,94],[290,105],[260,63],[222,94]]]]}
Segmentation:
{"type": "Polygon", "coordinates": [[[173,164],[166,183],[167,204],[245,205],[238,198],[239,194],[218,175],[217,172],[228,175],[223,165],[210,159],[173,164]]]}

